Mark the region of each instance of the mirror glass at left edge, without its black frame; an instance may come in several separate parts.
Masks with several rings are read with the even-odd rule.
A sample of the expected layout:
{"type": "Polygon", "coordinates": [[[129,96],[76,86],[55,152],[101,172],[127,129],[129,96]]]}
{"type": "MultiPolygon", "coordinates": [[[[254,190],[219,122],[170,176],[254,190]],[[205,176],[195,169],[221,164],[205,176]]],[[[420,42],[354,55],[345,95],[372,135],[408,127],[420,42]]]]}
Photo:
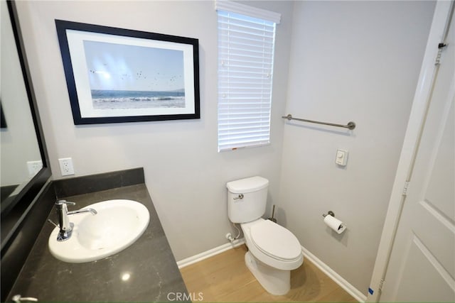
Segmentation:
{"type": "Polygon", "coordinates": [[[1,209],[43,167],[6,2],[1,1],[1,209]]]}

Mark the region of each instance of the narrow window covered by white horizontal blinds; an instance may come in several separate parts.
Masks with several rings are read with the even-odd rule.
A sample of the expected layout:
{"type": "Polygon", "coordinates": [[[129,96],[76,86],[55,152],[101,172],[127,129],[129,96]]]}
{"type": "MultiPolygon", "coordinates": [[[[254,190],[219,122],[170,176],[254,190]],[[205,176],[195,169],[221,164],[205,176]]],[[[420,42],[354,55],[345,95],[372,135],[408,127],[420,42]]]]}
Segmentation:
{"type": "Polygon", "coordinates": [[[218,151],[270,142],[275,25],[280,15],[217,1],[218,151]]]}

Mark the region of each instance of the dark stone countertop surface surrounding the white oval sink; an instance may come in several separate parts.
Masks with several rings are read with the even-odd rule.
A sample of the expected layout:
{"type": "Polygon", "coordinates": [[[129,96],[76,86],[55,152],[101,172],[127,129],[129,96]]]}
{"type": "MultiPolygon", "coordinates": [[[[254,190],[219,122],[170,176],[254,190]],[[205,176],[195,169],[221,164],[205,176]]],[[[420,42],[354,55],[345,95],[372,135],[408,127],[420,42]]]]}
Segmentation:
{"type": "MultiPolygon", "coordinates": [[[[168,293],[188,294],[145,184],[65,199],[77,204],[70,209],[109,199],[131,199],[149,209],[150,223],[132,246],[90,263],[65,263],[54,258],[48,249],[48,237],[54,226],[45,224],[9,301],[12,295],[21,294],[41,302],[164,302],[175,298],[171,295],[168,299],[168,293]]],[[[57,221],[54,211],[49,218],[57,221]]]]}

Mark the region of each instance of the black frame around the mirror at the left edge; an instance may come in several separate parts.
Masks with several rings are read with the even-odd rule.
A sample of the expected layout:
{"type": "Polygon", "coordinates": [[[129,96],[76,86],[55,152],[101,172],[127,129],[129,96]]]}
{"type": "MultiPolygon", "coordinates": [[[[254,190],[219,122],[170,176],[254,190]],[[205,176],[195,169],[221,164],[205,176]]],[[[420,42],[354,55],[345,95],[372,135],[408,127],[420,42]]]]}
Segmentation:
{"type": "Polygon", "coordinates": [[[6,201],[5,206],[1,206],[1,260],[3,260],[6,251],[14,241],[14,238],[16,238],[18,231],[21,229],[22,222],[26,219],[26,216],[29,215],[31,207],[35,204],[38,194],[50,180],[51,175],[43,128],[41,126],[38,105],[36,103],[35,92],[33,90],[30,70],[28,68],[21,28],[18,22],[16,3],[13,0],[7,0],[6,4],[8,6],[11,26],[13,28],[14,40],[16,40],[16,48],[19,61],[21,63],[23,80],[27,91],[28,102],[30,104],[31,116],[33,117],[33,125],[35,126],[41,160],[43,161],[43,168],[21,189],[21,192],[16,194],[14,197],[11,197],[9,201],[6,201]]]}

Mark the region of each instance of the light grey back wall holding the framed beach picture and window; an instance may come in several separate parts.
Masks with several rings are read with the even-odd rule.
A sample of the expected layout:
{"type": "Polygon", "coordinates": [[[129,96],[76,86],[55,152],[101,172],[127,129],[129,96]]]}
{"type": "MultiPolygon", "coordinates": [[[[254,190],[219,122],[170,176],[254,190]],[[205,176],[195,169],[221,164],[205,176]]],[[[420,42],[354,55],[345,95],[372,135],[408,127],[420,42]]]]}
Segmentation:
{"type": "MultiPolygon", "coordinates": [[[[58,158],[76,176],[144,167],[146,185],[177,260],[226,242],[225,182],[262,175],[278,196],[290,49],[291,2],[251,5],[282,13],[277,27],[272,144],[217,152],[217,17],[213,1],[18,1],[53,177],[58,158]],[[75,126],[54,19],[198,38],[201,119],[75,126]]],[[[270,207],[269,207],[270,208],[270,207]]],[[[268,209],[269,209],[268,208],[268,209]]]]}

